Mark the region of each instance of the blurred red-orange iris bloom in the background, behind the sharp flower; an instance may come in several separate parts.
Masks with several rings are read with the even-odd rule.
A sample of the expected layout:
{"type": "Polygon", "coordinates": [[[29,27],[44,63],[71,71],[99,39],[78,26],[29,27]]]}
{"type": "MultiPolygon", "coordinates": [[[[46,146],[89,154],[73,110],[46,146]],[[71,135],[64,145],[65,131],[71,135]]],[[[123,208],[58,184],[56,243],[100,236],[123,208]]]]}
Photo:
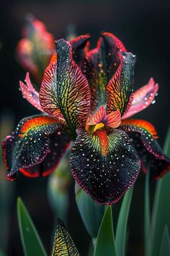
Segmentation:
{"type": "Polygon", "coordinates": [[[22,67],[34,74],[38,82],[42,79],[54,49],[53,35],[48,33],[40,20],[37,20],[32,14],[27,14],[22,39],[17,44],[16,54],[22,67]]]}

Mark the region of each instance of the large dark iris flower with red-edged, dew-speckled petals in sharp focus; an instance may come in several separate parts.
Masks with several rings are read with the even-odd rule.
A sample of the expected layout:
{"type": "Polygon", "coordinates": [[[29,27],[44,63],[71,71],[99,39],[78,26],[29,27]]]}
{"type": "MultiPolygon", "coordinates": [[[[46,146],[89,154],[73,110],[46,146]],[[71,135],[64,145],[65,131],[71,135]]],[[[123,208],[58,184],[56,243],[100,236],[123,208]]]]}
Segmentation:
{"type": "Polygon", "coordinates": [[[56,54],[40,93],[20,82],[24,98],[42,114],[22,119],[3,142],[7,179],[17,172],[47,176],[73,141],[70,166],[76,182],[101,205],[111,205],[134,184],[140,169],[151,179],[170,169],[148,121],[128,119],[148,107],[158,91],[151,78],[133,92],[135,56],[111,33],[89,51],[89,35],[56,41],[56,54]]]}

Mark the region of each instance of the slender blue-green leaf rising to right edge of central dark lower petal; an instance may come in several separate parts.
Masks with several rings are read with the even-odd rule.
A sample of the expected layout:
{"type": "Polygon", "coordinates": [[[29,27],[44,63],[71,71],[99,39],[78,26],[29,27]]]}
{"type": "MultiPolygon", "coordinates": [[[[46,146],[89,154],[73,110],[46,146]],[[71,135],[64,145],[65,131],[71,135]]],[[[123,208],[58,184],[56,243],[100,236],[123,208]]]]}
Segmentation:
{"type": "Polygon", "coordinates": [[[117,222],[117,230],[116,230],[117,256],[125,255],[126,230],[127,230],[128,216],[129,216],[132,197],[133,197],[133,187],[131,187],[126,192],[122,200],[122,206],[120,208],[120,214],[119,214],[119,218],[117,222]]]}

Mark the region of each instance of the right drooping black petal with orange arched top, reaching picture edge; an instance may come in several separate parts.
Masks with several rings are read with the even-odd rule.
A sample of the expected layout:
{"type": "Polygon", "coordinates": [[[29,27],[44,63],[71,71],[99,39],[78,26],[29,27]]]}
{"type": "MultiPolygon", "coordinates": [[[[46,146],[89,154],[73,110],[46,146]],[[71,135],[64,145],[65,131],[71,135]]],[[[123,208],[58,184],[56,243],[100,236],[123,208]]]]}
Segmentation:
{"type": "Polygon", "coordinates": [[[140,119],[125,119],[120,127],[128,133],[145,169],[150,166],[151,179],[161,178],[170,171],[170,159],[158,145],[157,132],[152,124],[140,119]]]}

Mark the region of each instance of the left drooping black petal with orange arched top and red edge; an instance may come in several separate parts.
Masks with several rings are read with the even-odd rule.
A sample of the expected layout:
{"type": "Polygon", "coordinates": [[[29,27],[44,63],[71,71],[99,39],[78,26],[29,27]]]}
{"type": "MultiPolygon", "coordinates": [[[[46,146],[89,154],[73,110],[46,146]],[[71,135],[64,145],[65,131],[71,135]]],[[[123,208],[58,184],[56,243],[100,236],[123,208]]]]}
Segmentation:
{"type": "MultiPolygon", "coordinates": [[[[53,152],[50,150],[53,150],[55,146],[58,147],[54,150],[55,153],[58,150],[55,159],[55,163],[57,163],[57,158],[61,157],[70,140],[60,135],[57,139],[55,137],[54,141],[52,140],[54,135],[57,136],[57,132],[62,132],[64,129],[66,126],[63,122],[51,116],[37,115],[22,119],[17,125],[17,129],[2,143],[4,163],[9,171],[7,178],[14,179],[16,172],[20,169],[24,170],[22,172],[29,173],[29,169],[25,170],[26,168],[38,165],[44,160],[45,163],[41,164],[41,167],[46,166],[49,160],[54,160],[53,152]],[[54,142],[54,146],[51,145],[52,142],[54,142]]],[[[53,167],[52,162],[49,167],[53,167]]],[[[40,168],[39,175],[42,174],[42,171],[47,170],[40,168]]],[[[30,171],[30,176],[37,176],[37,167],[30,171]]]]}

